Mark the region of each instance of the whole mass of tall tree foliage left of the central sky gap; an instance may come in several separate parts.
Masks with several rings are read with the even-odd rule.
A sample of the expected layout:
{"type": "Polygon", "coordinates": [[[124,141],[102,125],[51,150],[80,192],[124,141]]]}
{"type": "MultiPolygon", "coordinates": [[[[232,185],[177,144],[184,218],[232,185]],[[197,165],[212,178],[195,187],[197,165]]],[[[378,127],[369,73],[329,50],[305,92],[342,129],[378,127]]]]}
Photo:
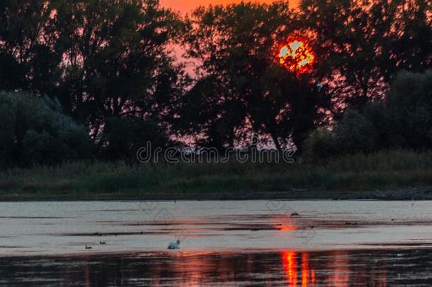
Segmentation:
{"type": "Polygon", "coordinates": [[[57,97],[95,138],[112,116],[164,123],[188,81],[182,27],[157,0],[1,1],[0,89],[57,97]]]}

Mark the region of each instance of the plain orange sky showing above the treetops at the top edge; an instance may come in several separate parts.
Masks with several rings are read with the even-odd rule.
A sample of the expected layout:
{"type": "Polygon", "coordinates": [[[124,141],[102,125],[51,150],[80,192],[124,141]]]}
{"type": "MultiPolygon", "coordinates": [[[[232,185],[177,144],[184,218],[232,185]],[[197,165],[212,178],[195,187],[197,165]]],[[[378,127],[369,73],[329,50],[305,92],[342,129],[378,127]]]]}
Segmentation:
{"type": "MultiPolygon", "coordinates": [[[[172,8],[181,13],[189,13],[197,6],[207,6],[209,4],[233,4],[239,3],[241,0],[161,0],[162,6],[172,8]]],[[[258,0],[261,3],[271,3],[274,0],[258,0]]],[[[290,0],[292,7],[297,5],[299,0],[290,0]]]]}

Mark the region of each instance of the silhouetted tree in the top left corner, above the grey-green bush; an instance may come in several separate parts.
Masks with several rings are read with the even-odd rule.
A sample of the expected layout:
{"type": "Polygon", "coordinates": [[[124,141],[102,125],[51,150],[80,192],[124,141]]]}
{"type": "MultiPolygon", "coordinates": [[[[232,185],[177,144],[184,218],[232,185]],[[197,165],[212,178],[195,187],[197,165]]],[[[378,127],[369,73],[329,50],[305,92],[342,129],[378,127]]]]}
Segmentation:
{"type": "Polygon", "coordinates": [[[0,90],[53,94],[62,51],[51,1],[0,1],[0,90]]]}

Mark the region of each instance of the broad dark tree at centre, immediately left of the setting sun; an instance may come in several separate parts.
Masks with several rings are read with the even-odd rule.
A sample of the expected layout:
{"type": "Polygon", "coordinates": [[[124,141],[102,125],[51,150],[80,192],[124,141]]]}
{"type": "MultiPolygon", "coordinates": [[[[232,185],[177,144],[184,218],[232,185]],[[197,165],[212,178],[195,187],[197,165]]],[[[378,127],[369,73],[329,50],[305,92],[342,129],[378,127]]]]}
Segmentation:
{"type": "Polygon", "coordinates": [[[185,43],[202,77],[181,101],[178,126],[219,148],[251,133],[270,135],[278,148],[301,142],[325,101],[314,77],[275,62],[292,17],[285,2],[197,9],[185,43]]]}

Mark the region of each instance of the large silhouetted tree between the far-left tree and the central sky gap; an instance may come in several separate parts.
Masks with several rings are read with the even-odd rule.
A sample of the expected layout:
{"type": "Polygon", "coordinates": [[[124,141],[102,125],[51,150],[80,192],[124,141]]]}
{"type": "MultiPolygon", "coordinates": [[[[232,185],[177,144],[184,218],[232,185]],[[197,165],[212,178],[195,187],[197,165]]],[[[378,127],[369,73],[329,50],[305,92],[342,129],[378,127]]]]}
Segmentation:
{"type": "Polygon", "coordinates": [[[178,18],[155,0],[59,0],[56,9],[63,105],[94,133],[113,116],[163,120],[183,87],[168,52],[178,18]]]}

